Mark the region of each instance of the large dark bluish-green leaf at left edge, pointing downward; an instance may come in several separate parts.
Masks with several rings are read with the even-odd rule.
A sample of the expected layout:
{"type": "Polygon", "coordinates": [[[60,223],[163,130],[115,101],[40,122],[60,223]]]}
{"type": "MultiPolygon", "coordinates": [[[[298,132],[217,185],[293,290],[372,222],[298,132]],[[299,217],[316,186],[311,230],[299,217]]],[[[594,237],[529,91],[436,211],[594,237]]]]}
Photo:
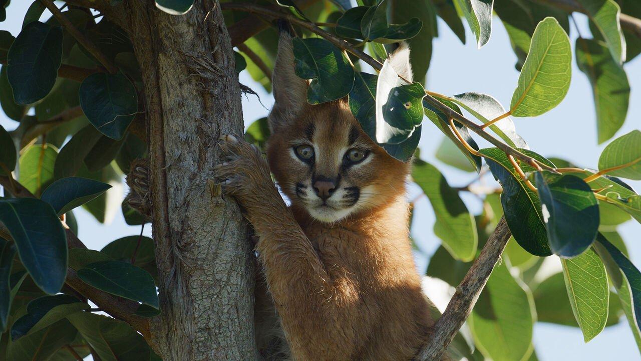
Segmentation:
{"type": "Polygon", "coordinates": [[[35,198],[5,198],[0,221],[36,285],[47,294],[60,292],[67,276],[67,238],[53,208],[35,198]]]}

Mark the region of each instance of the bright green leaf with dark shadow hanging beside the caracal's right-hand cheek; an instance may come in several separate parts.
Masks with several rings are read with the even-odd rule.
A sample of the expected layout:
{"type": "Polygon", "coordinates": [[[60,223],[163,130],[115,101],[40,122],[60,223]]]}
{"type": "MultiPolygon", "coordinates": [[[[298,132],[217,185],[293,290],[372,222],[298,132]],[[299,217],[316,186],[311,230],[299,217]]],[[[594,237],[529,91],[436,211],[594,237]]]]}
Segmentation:
{"type": "Polygon", "coordinates": [[[457,260],[470,261],[476,255],[478,234],[474,219],[438,169],[420,159],[414,163],[412,178],[428,196],[436,215],[434,233],[457,260]]]}

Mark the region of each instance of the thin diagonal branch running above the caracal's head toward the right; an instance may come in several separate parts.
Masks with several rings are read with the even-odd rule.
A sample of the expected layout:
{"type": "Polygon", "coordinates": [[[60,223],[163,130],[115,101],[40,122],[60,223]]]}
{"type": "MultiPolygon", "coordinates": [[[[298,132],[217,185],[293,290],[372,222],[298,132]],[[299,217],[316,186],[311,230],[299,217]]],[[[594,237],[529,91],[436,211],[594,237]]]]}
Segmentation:
{"type": "MultiPolygon", "coordinates": [[[[297,18],[294,15],[288,14],[288,13],[283,13],[279,12],[276,10],[272,10],[271,8],[267,8],[265,6],[260,6],[256,4],[250,4],[250,3],[222,3],[221,7],[223,9],[227,10],[239,10],[239,11],[246,11],[246,12],[251,12],[251,13],[261,13],[263,15],[266,15],[268,17],[272,17],[274,19],[280,18],[280,19],[285,19],[289,22],[292,22],[293,24],[297,24],[301,26],[301,28],[305,28],[309,31],[312,31],[313,33],[316,33],[320,35],[321,37],[325,38],[337,48],[349,51],[350,53],[356,55],[356,57],[360,58],[367,64],[369,64],[371,67],[374,69],[380,71],[381,67],[383,67],[383,64],[380,62],[376,61],[374,58],[370,57],[363,51],[357,49],[356,47],[353,46],[350,42],[347,40],[340,39],[336,37],[335,35],[328,33],[325,30],[322,30],[312,22],[304,21],[302,19],[297,18]]],[[[452,118],[456,119],[459,123],[461,123],[463,126],[466,128],[469,128],[472,130],[472,132],[478,134],[479,136],[483,137],[483,139],[487,140],[488,142],[492,143],[492,145],[496,146],[500,150],[503,150],[506,154],[512,155],[513,157],[520,159],[521,161],[526,162],[526,164],[532,164],[532,163],[537,163],[542,169],[544,170],[549,170],[551,172],[556,172],[554,168],[547,166],[547,164],[541,163],[537,161],[536,159],[529,157],[528,155],[523,154],[519,150],[512,148],[509,145],[506,145],[502,141],[499,141],[499,139],[496,139],[492,135],[490,135],[488,132],[486,132],[480,125],[477,125],[473,121],[465,118],[461,114],[458,114],[458,112],[455,112],[453,109],[445,105],[444,103],[441,103],[438,101],[436,98],[433,96],[426,94],[424,101],[429,103],[430,105],[433,105],[435,108],[440,110],[447,116],[447,118],[452,118]]]]}

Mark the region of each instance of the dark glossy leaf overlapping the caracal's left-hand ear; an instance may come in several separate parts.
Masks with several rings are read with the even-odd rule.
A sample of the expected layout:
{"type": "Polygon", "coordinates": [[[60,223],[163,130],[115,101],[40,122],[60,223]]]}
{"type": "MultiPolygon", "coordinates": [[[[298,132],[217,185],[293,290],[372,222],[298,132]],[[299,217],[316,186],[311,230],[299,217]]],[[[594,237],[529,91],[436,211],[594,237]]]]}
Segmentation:
{"type": "Polygon", "coordinates": [[[296,75],[312,79],[307,88],[308,103],[337,100],[351,91],[354,69],[338,48],[320,38],[294,38],[292,41],[296,75]]]}

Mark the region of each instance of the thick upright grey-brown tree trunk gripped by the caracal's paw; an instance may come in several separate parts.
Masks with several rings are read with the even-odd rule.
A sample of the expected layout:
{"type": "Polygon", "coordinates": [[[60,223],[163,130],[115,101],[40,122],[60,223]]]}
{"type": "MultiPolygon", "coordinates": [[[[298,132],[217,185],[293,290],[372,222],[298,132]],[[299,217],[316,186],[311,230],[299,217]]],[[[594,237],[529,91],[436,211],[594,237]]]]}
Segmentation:
{"type": "MultiPolygon", "coordinates": [[[[253,261],[235,201],[212,183],[221,134],[242,136],[240,87],[218,1],[172,16],[125,1],[142,69],[153,238],[162,315],[153,348],[169,360],[255,359],[253,261]]],[[[142,102],[141,102],[142,103],[142,102]]]]}

